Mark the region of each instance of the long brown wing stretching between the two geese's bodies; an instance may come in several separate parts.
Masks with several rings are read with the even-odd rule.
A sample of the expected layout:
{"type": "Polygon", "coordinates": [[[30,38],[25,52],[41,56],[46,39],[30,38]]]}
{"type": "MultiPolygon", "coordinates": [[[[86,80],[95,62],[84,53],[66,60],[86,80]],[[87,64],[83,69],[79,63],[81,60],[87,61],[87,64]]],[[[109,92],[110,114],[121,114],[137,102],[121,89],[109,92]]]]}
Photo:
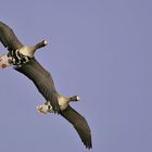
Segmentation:
{"type": "Polygon", "coordinates": [[[22,64],[22,66],[15,66],[14,68],[33,80],[39,92],[50,102],[54,113],[60,112],[56,90],[51,74],[36,59],[31,59],[29,62],[22,64]]]}

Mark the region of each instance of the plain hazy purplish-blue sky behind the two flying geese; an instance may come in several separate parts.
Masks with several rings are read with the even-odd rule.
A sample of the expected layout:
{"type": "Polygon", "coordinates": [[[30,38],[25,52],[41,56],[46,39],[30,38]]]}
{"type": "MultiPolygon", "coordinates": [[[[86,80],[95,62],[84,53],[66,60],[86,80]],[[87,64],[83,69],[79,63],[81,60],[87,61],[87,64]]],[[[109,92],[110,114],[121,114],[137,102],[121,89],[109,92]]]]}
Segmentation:
{"type": "MultiPolygon", "coordinates": [[[[25,45],[48,39],[36,58],[92,130],[91,152],[152,151],[152,2],[1,0],[0,20],[25,45]]],[[[0,46],[1,53],[5,49],[0,46]]],[[[0,150],[87,152],[61,116],[40,115],[34,84],[0,69],[0,150]]]]}

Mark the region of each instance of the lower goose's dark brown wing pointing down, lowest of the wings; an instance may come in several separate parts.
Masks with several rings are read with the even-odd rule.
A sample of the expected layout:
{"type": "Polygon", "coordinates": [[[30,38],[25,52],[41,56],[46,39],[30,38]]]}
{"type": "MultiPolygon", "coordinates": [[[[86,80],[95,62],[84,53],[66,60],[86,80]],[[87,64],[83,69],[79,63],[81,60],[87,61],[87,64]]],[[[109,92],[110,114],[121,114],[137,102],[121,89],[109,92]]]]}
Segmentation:
{"type": "Polygon", "coordinates": [[[86,118],[83,117],[78,112],[76,112],[69,105],[67,106],[66,110],[62,111],[60,114],[64,118],[66,118],[69,123],[72,123],[72,125],[77,130],[86,148],[91,149],[92,148],[91,131],[86,118]]]}

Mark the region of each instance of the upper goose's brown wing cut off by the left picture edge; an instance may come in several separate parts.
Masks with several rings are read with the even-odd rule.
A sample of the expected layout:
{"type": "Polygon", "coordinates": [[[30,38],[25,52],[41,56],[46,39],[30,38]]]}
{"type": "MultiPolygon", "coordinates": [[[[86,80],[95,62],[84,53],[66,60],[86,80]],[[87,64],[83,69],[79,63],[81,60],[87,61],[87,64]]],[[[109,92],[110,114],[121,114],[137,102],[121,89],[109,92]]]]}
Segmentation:
{"type": "Polygon", "coordinates": [[[9,51],[23,47],[13,30],[2,22],[0,22],[0,41],[9,51]]]}

